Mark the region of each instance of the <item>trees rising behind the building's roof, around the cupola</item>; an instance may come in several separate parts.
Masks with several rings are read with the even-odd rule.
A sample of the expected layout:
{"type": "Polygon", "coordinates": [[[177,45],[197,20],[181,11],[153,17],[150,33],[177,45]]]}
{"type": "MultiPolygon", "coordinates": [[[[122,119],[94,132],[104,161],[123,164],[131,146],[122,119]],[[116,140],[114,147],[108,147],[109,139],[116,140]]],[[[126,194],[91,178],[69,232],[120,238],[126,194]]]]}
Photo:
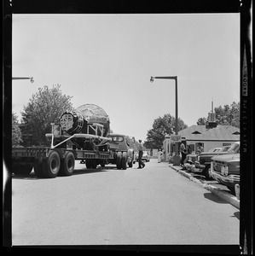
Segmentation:
{"type": "MultiPolygon", "coordinates": [[[[230,106],[224,105],[214,108],[217,125],[233,125],[240,128],[240,102],[233,102],[230,106]]],[[[206,118],[200,118],[197,125],[206,125],[206,118]]]]}

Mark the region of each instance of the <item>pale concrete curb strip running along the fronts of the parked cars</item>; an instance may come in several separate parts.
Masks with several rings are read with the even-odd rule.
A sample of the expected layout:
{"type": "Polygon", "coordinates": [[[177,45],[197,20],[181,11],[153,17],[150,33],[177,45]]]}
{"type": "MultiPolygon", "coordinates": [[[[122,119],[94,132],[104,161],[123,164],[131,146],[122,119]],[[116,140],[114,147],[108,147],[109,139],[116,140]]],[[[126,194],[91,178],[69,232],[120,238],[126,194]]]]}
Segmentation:
{"type": "Polygon", "coordinates": [[[238,200],[235,195],[231,195],[227,191],[223,191],[222,189],[219,189],[211,184],[200,182],[198,178],[194,177],[194,173],[182,170],[181,166],[173,166],[172,164],[170,164],[169,166],[173,170],[181,173],[183,176],[188,177],[194,183],[200,184],[204,189],[211,191],[212,194],[217,195],[224,201],[229,202],[229,204],[231,204],[232,206],[240,209],[240,200],[238,200]]]}

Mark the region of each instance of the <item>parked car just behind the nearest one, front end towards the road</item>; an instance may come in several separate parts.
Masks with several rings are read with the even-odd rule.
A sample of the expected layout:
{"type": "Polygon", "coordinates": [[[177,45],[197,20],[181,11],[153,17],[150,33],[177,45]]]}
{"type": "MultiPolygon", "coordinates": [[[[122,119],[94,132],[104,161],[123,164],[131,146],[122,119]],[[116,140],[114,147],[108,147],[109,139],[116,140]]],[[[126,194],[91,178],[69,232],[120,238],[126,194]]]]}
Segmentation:
{"type": "Polygon", "coordinates": [[[196,155],[196,159],[194,161],[187,161],[184,164],[185,168],[191,172],[199,172],[204,175],[206,178],[211,178],[209,175],[209,169],[212,162],[212,157],[216,155],[223,154],[233,154],[237,153],[240,148],[240,142],[233,143],[230,147],[223,146],[219,151],[215,152],[203,152],[196,155]]]}

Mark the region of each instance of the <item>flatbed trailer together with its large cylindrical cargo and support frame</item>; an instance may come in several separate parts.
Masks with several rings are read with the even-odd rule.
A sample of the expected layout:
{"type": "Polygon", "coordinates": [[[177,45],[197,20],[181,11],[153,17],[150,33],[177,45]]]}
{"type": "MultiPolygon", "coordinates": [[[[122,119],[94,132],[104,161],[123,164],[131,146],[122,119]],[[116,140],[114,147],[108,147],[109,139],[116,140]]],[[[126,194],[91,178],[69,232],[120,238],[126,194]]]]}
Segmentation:
{"type": "MultiPolygon", "coordinates": [[[[119,144],[109,137],[110,121],[107,113],[95,104],[84,104],[74,111],[61,114],[58,123],[51,123],[47,133],[49,147],[12,148],[12,172],[32,172],[37,177],[70,176],[75,160],[86,168],[95,169],[116,162],[119,144]]],[[[125,154],[124,154],[125,155],[125,154]]],[[[118,159],[124,163],[125,160],[118,159]]],[[[123,164],[123,169],[125,165],[123,164]]],[[[119,166],[118,166],[118,169],[119,166]]]]}

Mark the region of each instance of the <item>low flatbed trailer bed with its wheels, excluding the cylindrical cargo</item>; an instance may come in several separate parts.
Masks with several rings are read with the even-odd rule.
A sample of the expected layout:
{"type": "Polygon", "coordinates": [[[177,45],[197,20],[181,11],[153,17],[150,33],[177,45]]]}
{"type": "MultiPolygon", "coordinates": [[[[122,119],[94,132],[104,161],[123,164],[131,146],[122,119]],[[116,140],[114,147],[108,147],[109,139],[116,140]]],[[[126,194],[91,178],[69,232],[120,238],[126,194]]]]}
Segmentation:
{"type": "Polygon", "coordinates": [[[104,166],[109,160],[113,160],[118,145],[116,148],[113,146],[107,151],[50,147],[12,148],[12,172],[28,175],[33,168],[37,177],[71,176],[75,160],[85,163],[89,169],[96,169],[99,164],[104,166]]]}

